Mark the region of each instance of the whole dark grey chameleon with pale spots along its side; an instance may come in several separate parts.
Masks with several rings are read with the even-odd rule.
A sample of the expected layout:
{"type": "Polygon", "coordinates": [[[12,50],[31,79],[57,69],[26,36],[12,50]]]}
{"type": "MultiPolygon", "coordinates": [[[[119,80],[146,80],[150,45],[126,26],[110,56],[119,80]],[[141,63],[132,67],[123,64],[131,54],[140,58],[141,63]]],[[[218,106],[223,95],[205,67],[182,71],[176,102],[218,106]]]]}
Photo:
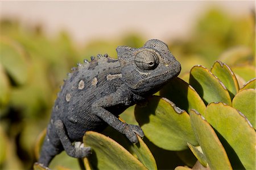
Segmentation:
{"type": "Polygon", "coordinates": [[[119,121],[118,115],[160,90],[181,66],[156,39],[141,48],[119,46],[116,51],[118,59],[98,55],[69,73],[53,106],[38,163],[48,167],[63,150],[72,157],[89,156],[91,148],[77,141],[85,131],[102,131],[108,125],[132,143],[138,142],[136,134],[144,136],[141,127],[119,121]]]}

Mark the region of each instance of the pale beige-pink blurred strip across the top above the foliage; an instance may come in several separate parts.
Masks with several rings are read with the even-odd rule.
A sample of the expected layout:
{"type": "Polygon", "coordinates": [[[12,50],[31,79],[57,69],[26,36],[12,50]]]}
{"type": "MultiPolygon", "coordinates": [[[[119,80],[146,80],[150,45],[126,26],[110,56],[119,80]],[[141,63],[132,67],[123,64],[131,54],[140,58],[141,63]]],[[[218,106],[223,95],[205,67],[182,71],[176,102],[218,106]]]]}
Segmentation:
{"type": "Polygon", "coordinates": [[[67,30],[76,42],[138,32],[147,39],[185,37],[200,14],[217,6],[251,15],[255,1],[1,1],[0,18],[43,24],[48,35],[67,30]]]}

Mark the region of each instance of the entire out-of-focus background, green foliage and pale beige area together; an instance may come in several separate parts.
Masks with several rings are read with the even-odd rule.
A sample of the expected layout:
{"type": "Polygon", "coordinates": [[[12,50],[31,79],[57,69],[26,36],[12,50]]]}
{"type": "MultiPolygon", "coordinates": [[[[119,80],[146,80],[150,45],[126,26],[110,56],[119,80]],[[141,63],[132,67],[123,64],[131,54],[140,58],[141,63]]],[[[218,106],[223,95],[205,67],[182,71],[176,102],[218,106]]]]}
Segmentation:
{"type": "MultiPolygon", "coordinates": [[[[118,45],[162,40],[181,78],[216,60],[255,72],[254,1],[1,1],[0,29],[0,169],[32,168],[67,73],[118,45]]],[[[65,153],[52,167],[63,162],[79,168],[65,153]]]]}

